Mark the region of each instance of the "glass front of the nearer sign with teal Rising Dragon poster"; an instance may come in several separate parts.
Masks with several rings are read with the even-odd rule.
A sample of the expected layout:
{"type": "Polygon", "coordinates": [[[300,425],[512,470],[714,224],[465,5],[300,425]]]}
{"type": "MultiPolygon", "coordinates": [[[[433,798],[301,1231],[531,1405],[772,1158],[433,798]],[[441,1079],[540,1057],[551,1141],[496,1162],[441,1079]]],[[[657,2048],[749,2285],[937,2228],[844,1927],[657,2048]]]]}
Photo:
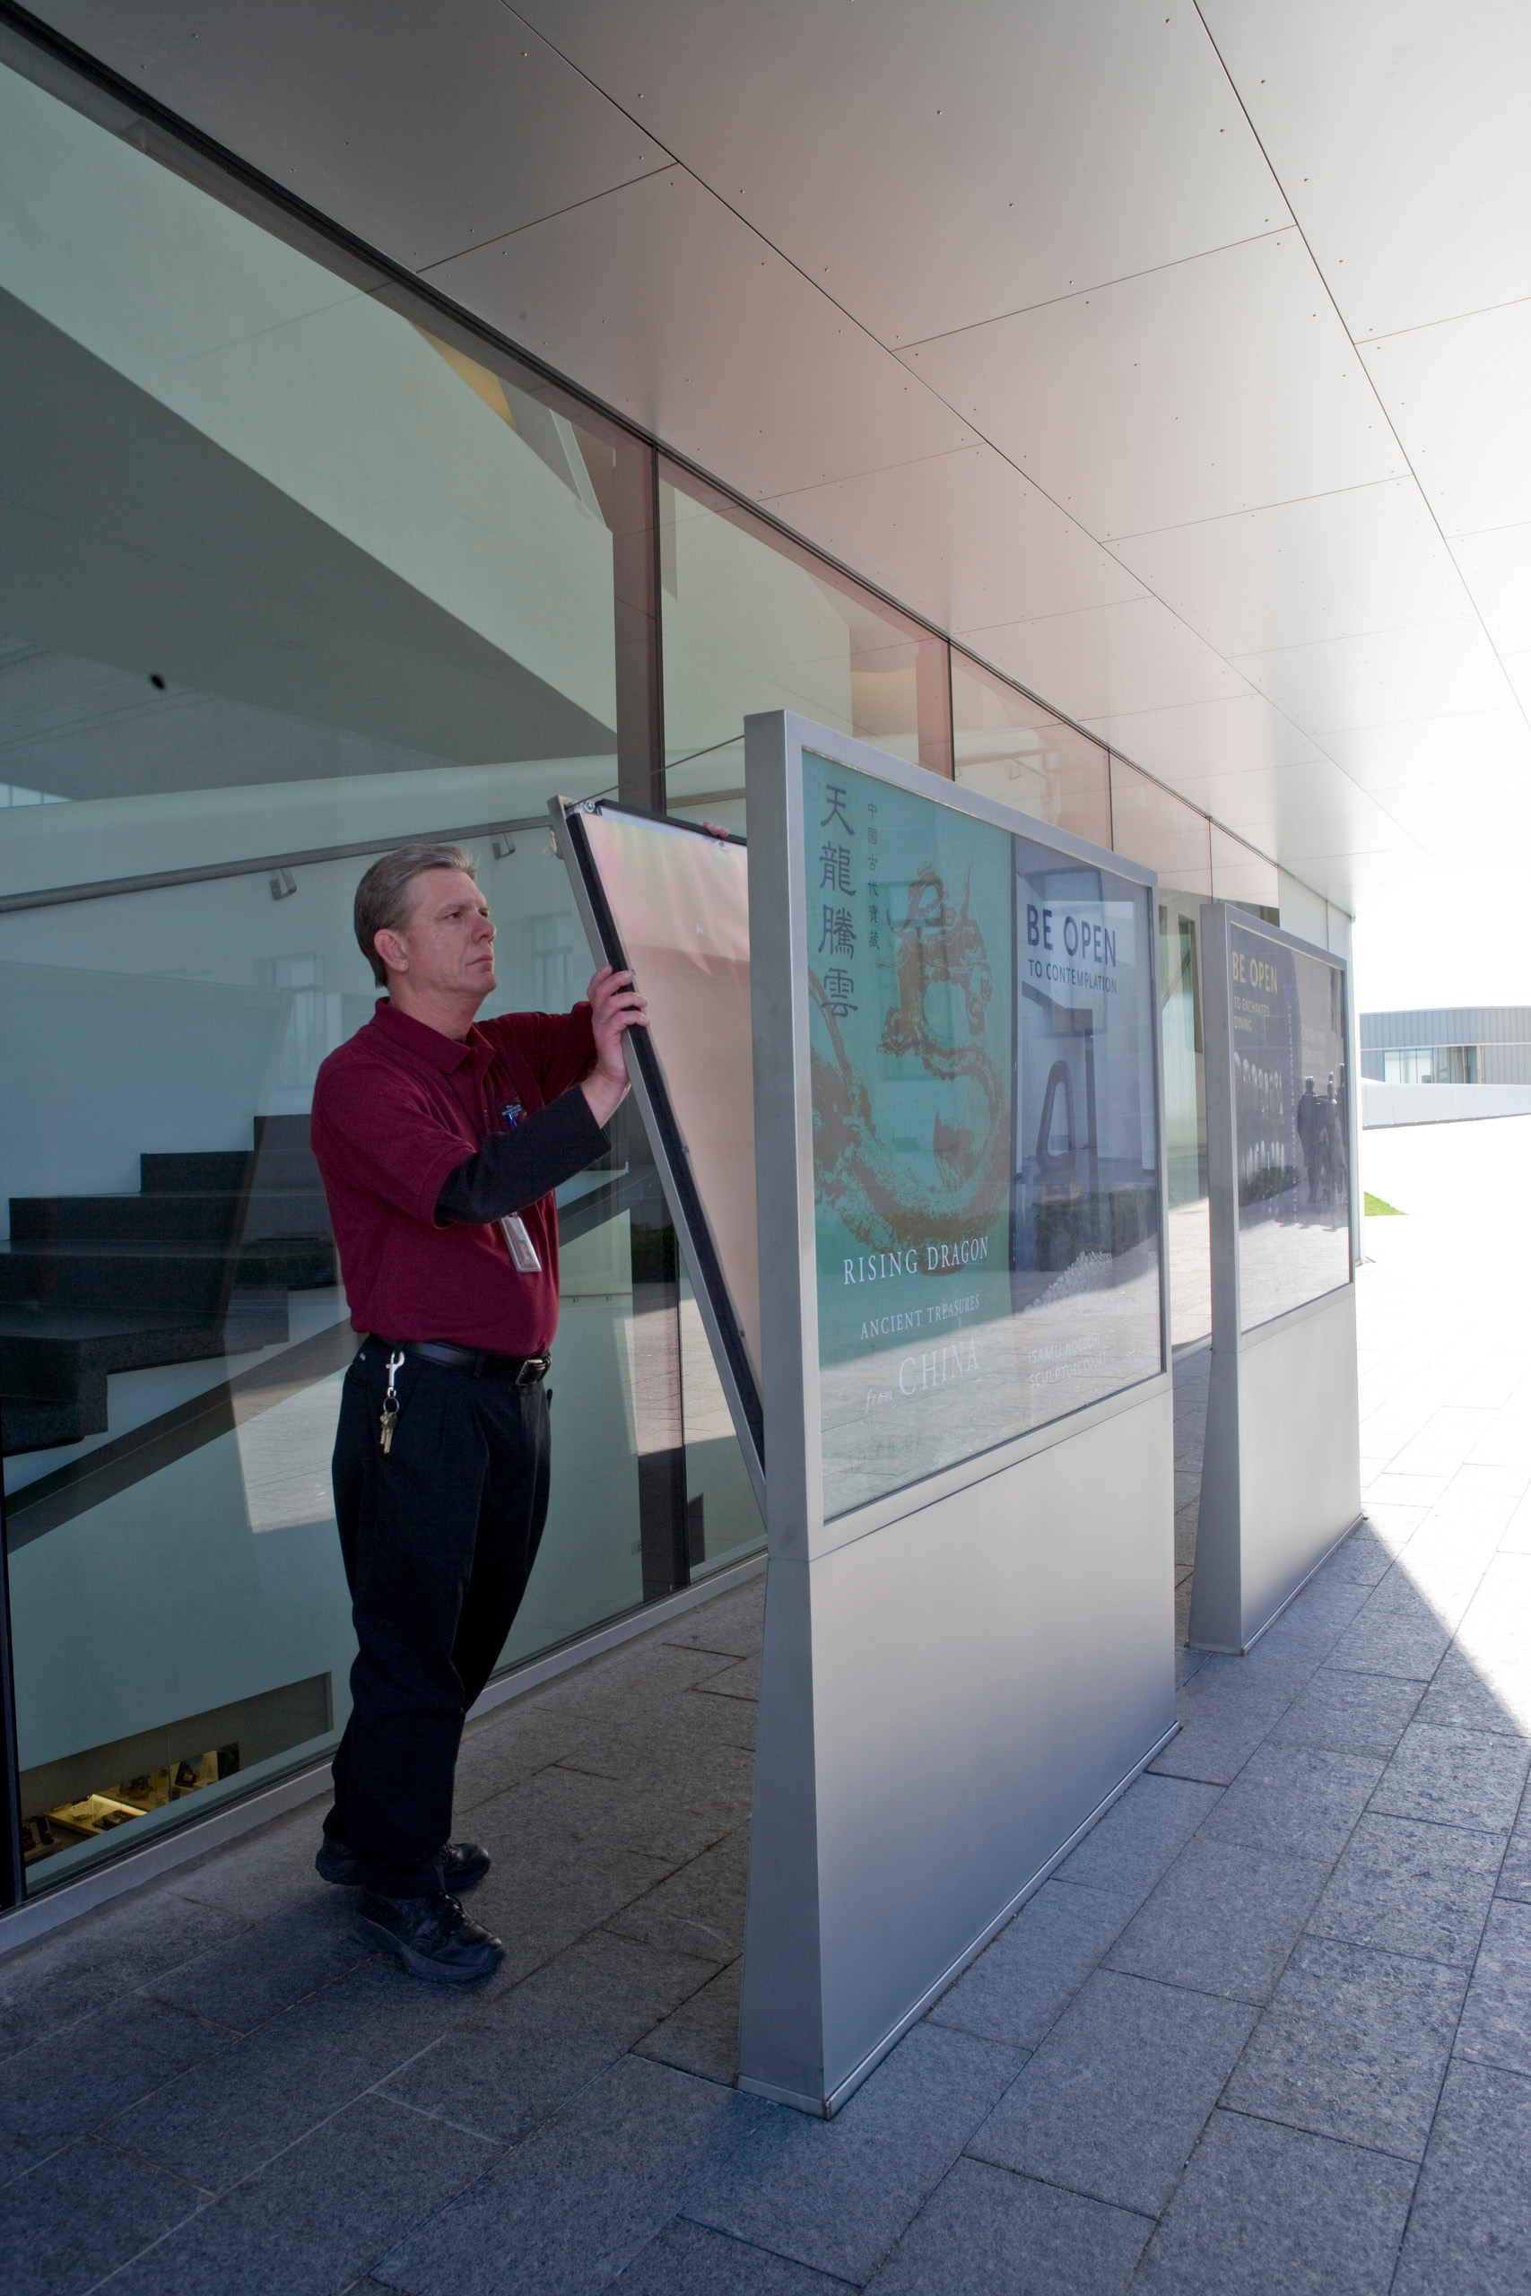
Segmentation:
{"type": "Polygon", "coordinates": [[[1150,907],[803,758],[824,1513],[1159,1368],[1150,907]]]}

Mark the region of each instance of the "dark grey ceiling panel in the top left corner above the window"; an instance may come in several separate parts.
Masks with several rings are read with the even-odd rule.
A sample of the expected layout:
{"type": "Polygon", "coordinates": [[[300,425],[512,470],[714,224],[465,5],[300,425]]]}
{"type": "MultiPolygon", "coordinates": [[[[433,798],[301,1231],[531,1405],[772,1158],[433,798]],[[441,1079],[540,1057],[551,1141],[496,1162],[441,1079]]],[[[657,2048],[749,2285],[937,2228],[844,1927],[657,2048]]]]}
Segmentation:
{"type": "Polygon", "coordinates": [[[411,271],[670,156],[500,0],[37,14],[411,271]]]}

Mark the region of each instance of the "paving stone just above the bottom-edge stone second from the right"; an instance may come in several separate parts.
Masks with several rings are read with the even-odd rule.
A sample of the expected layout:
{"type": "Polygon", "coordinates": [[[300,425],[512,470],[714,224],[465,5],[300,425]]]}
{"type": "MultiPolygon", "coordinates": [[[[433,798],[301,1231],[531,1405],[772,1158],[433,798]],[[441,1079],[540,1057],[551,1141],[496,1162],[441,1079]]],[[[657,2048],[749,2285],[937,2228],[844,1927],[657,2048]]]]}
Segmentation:
{"type": "Polygon", "coordinates": [[[1464,1991],[1437,1961],[1304,1938],[1223,2101],[1421,2161],[1464,1991]]]}

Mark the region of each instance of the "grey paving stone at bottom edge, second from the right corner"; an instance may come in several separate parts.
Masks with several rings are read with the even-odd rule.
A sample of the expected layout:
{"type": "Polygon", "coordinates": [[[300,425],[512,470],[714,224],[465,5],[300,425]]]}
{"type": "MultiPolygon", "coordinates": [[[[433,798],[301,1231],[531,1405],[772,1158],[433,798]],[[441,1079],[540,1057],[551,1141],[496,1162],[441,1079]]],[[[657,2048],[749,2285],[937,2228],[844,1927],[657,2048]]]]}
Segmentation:
{"type": "Polygon", "coordinates": [[[1214,2112],[1134,2296],[1386,2296],[1412,2190],[1407,2161],[1214,2112]]]}

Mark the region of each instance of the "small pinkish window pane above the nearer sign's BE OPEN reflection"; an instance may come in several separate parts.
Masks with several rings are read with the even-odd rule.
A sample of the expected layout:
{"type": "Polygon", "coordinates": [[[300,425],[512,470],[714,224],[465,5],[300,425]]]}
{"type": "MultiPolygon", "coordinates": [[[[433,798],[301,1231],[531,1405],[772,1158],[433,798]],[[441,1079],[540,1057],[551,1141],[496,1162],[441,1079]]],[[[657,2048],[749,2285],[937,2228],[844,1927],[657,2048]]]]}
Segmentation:
{"type": "Polygon", "coordinates": [[[1111,778],[1099,742],[955,650],[953,748],[964,790],[1111,845],[1111,778]]]}

